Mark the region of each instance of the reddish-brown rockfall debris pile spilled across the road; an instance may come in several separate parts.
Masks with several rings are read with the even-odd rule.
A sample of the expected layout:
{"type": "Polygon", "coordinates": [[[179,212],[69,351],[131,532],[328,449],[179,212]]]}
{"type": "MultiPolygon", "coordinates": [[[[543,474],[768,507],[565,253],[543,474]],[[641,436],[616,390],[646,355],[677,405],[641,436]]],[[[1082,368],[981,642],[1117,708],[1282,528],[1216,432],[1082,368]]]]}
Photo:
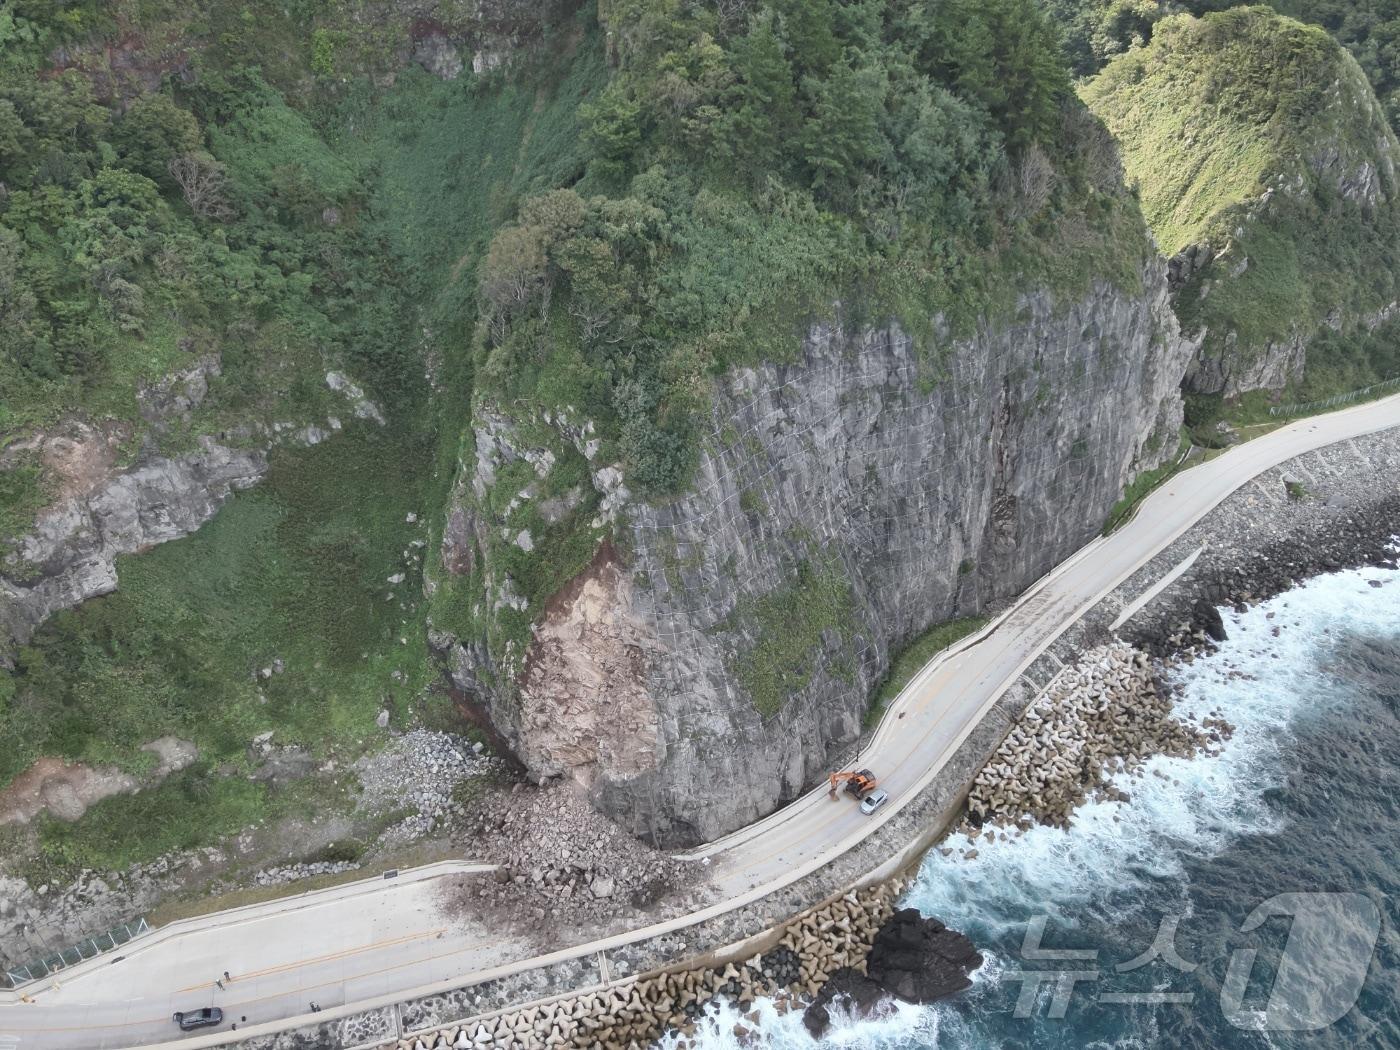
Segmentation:
{"type": "Polygon", "coordinates": [[[519,920],[603,918],[647,907],[693,883],[699,871],[633,839],[568,784],[491,792],[475,808],[468,836],[475,855],[501,867],[494,879],[451,892],[504,906],[519,920]]]}

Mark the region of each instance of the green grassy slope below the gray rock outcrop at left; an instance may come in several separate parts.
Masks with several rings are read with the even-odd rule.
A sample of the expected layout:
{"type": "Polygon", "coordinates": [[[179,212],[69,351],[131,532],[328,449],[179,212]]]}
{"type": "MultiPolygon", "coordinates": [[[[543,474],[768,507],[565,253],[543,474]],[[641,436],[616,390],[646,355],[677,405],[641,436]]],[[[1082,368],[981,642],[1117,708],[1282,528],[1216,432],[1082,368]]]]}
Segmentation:
{"type": "Polygon", "coordinates": [[[423,510],[423,461],[421,441],[356,424],[274,454],[263,484],[193,536],[120,559],[116,594],[55,616],[0,672],[0,783],[41,755],[140,770],[140,745],[165,734],[209,766],[241,764],[267,729],[354,750],[386,700],[402,715],[427,675],[420,529],[405,521],[423,510]],[[284,673],[255,679],[277,658],[284,673]]]}

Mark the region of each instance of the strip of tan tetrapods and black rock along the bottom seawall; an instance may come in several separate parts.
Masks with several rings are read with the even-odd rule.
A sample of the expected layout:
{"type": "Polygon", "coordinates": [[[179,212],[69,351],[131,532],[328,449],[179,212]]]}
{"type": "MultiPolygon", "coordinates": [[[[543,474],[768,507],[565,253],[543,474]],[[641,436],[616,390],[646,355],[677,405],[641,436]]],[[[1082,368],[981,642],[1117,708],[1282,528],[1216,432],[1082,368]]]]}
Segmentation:
{"type": "MultiPolygon", "coordinates": [[[[759,997],[771,997],[780,1012],[788,1012],[818,1000],[836,974],[862,977],[869,972],[881,980],[924,981],[911,967],[928,966],[931,952],[945,965],[958,966],[965,981],[966,972],[976,969],[981,958],[960,934],[946,931],[937,920],[925,923],[911,909],[886,925],[903,889],[904,883],[896,879],[819,904],[792,920],[774,946],[742,960],[645,974],[606,988],[470,1018],[400,1039],[395,1050],[640,1050],[666,1033],[679,1035],[679,1044],[686,1046],[699,1018],[720,998],[748,1008],[759,997]],[[885,945],[883,960],[872,953],[876,944],[885,945]]],[[[883,991],[883,986],[878,987],[883,991]]],[[[745,1025],[735,1028],[741,1040],[749,1035],[752,1030],[745,1025]]]]}

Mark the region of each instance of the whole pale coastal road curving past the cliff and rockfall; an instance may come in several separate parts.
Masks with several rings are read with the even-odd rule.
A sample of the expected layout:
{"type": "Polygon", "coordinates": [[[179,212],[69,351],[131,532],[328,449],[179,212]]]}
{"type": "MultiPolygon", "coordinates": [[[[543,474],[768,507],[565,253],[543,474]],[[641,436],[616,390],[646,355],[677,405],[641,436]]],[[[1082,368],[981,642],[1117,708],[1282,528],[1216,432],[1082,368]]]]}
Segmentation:
{"type": "MultiPolygon", "coordinates": [[[[1176,475],[1142,503],[1128,524],[1061,563],[1002,617],[935,658],[900,693],[860,757],[860,764],[874,769],[892,795],[874,818],[862,816],[848,798],[830,801],[822,787],[686,854],[706,867],[720,895],[717,904],[605,941],[561,945],[557,952],[535,958],[524,945],[497,942],[489,931],[473,930],[469,920],[444,921],[423,893],[384,903],[388,910],[378,914],[375,909],[393,899],[393,888],[360,900],[356,910],[365,918],[356,920],[353,935],[339,932],[336,923],[308,921],[305,916],[291,920],[270,914],[256,925],[235,917],[220,925],[217,952],[210,952],[207,942],[193,951],[182,944],[185,938],[175,937],[129,952],[118,966],[118,979],[102,979],[94,969],[67,979],[56,991],[41,988],[32,1004],[0,998],[0,1047],[87,1050],[169,1039],[169,1009],[182,1008],[172,1002],[196,1007],[211,1001],[225,1011],[230,1005],[242,1011],[245,1002],[252,1002],[256,1012],[249,1014],[251,1022],[304,1014],[309,1000],[347,1004],[347,1011],[350,1004],[388,1005],[396,997],[445,990],[473,974],[498,976],[679,930],[766,896],[858,846],[890,819],[938,774],[1002,692],[1050,643],[1238,487],[1296,455],[1394,426],[1400,426],[1400,395],[1288,424],[1176,475]],[[234,951],[239,966],[213,963],[214,958],[231,958],[234,951]],[[190,958],[200,959],[203,969],[190,969],[190,958]],[[227,1002],[213,998],[217,988],[209,987],[211,979],[223,969],[238,977],[241,967],[255,974],[249,983],[239,987],[234,981],[227,1002]],[[11,1037],[6,1043],[7,1036],[20,1042],[11,1037]]],[[[343,913],[342,907],[336,914],[343,913]]],[[[199,1039],[193,1044],[214,1043],[199,1039]]]]}

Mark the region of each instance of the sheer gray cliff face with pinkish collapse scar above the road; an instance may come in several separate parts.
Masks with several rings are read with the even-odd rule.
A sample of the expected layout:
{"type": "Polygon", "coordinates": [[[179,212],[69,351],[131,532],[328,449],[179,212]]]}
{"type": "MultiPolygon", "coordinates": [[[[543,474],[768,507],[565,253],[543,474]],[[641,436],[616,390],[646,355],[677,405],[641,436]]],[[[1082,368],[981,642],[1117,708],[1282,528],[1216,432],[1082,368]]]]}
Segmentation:
{"type": "Polygon", "coordinates": [[[435,640],[536,776],[577,780],[665,844],[763,816],[855,739],[903,644],[1022,591],[1177,449],[1191,344],[1161,260],[1140,290],[1028,294],[1012,319],[941,343],[819,326],[799,361],[727,374],[694,482],[666,503],[631,498],[587,423],[477,414],[442,566],[480,574],[490,609],[532,617],[532,640],[435,640]],[[550,435],[592,482],[553,512],[591,515],[601,542],[529,608],[521,563],[493,561],[486,540],[540,498],[550,435]],[[483,498],[522,465],[510,504],[483,498]]]}

